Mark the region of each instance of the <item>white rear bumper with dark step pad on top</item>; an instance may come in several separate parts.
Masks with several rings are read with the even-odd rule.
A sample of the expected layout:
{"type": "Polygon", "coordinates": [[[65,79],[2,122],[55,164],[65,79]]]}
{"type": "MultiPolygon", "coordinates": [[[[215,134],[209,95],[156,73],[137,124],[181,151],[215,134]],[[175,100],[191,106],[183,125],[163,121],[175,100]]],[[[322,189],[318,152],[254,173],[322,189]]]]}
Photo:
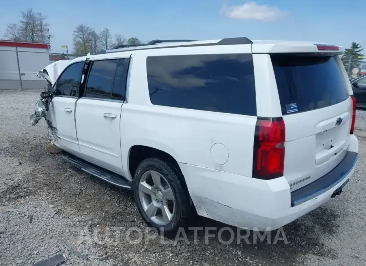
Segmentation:
{"type": "Polygon", "coordinates": [[[314,181],[317,183],[313,186],[292,193],[284,177],[266,181],[194,165],[179,165],[199,215],[240,228],[269,231],[326,203],[349,181],[357,158],[358,140],[352,135],[347,157],[329,173],[330,176],[327,174],[324,179],[320,178],[321,181],[314,181]]]}

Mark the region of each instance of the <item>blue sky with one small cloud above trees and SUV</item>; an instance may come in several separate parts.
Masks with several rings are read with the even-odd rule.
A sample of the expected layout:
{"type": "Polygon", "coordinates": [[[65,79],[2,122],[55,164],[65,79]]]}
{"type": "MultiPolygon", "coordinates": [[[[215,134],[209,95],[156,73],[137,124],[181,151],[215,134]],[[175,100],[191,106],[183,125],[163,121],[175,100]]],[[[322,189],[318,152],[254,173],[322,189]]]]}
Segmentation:
{"type": "MultiPolygon", "coordinates": [[[[363,0],[18,0],[0,6],[0,38],[6,24],[33,8],[48,17],[52,50],[72,47],[72,31],[83,23],[100,32],[153,39],[282,39],[366,47],[363,0]]],[[[71,49],[70,49],[71,50],[71,49]]],[[[366,51],[366,50],[365,50],[366,51]]]]}

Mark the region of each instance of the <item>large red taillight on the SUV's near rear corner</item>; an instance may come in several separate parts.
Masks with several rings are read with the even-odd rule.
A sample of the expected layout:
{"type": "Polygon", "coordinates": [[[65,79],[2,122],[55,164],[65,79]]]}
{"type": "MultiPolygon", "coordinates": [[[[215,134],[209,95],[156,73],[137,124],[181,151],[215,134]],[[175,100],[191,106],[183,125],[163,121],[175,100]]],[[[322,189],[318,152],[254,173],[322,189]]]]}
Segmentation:
{"type": "Polygon", "coordinates": [[[253,177],[283,176],[285,164],[285,123],[282,117],[257,118],[253,149],[253,177]]]}

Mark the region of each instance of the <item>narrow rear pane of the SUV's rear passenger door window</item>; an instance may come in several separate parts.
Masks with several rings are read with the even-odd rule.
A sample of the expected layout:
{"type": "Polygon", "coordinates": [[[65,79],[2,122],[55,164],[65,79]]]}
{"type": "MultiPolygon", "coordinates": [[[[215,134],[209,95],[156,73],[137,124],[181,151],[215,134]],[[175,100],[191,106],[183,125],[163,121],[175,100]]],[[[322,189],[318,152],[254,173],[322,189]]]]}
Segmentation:
{"type": "Polygon", "coordinates": [[[129,61],[129,58],[123,58],[118,60],[118,66],[116,76],[114,78],[112,92],[112,99],[114,100],[125,100],[129,61]]]}

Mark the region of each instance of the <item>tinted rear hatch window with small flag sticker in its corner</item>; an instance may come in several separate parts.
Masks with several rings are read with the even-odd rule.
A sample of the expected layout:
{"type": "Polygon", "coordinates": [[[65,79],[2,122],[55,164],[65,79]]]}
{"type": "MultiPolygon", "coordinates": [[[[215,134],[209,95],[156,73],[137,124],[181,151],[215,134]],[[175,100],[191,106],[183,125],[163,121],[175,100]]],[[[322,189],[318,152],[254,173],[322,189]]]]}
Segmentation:
{"type": "Polygon", "coordinates": [[[271,60],[283,115],[325,108],[349,97],[334,56],[280,54],[271,60]]]}

